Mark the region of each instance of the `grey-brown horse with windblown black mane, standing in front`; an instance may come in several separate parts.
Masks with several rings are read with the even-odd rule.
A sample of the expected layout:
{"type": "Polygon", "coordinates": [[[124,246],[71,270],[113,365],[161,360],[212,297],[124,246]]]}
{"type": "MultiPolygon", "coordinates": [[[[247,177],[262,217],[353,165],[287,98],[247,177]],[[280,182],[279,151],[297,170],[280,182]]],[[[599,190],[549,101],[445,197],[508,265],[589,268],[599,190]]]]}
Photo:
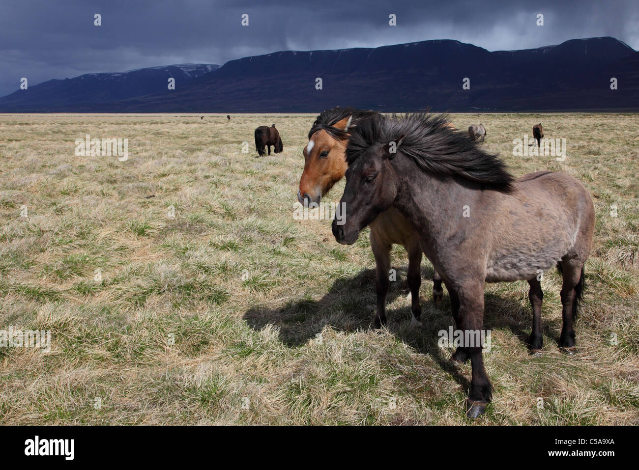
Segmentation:
{"type": "MultiPolygon", "coordinates": [[[[396,208],[419,232],[424,254],[442,275],[463,346],[453,359],[472,363],[466,416],[486,411],[492,387],[482,359],[484,283],[527,280],[533,308],[531,352],[542,347],[539,273],[555,266],[563,326],[558,345],[574,351],[573,321],[583,292],[595,211],[590,194],[566,173],[541,171],[514,179],[504,162],[474,140],[445,132],[442,117],[374,116],[351,133],[341,203],[339,243],[396,208]],[[474,337],[474,338],[473,338],[474,337]]],[[[456,335],[458,336],[458,335],[456,335]]]]}

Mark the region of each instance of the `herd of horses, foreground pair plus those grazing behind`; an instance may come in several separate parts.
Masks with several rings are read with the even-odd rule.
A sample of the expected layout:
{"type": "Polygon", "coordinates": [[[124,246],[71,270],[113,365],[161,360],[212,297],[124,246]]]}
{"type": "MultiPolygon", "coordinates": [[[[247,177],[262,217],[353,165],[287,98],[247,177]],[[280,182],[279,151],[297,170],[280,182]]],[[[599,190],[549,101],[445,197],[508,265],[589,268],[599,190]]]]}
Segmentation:
{"type": "MultiPolygon", "coordinates": [[[[541,123],[533,128],[537,142],[541,123]]],[[[255,131],[256,147],[282,151],[275,130],[255,131]],[[278,150],[279,149],[279,150],[278,150]]],[[[584,264],[595,225],[592,199],[573,176],[539,171],[512,176],[497,155],[479,142],[483,125],[468,134],[444,115],[429,112],[403,117],[371,110],[325,110],[314,121],[304,147],[304,171],[298,201],[319,204],[332,186],[346,177],[340,204],[344,224],[333,220],[335,240],[357,241],[369,226],[376,262],[377,308],[374,328],[386,322],[390,251],[402,245],[408,254],[407,281],[412,324],[420,325],[420,264],[426,255],[434,268],[433,299],[449,292],[457,330],[483,329],[484,284],[526,280],[532,305],[530,354],[543,348],[541,276],[552,268],[562,274],[560,351],[575,351],[573,322],[584,285],[584,264]]],[[[466,336],[465,336],[466,337],[466,336]]],[[[457,347],[452,360],[472,365],[466,416],[486,411],[492,386],[484,370],[482,344],[457,347]]]]}

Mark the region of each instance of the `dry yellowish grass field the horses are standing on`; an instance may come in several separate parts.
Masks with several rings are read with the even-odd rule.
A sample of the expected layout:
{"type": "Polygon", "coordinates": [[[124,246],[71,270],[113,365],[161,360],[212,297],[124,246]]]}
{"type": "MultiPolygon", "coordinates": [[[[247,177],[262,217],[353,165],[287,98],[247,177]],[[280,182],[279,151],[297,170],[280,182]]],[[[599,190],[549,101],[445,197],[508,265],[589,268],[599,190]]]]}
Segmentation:
{"type": "MultiPolygon", "coordinates": [[[[0,116],[0,330],[51,335],[49,351],[0,348],[0,423],[471,423],[470,363],[438,347],[454,323],[446,292],[440,309],[431,302],[429,262],[417,330],[394,248],[389,327],[376,333],[369,232],[343,246],[330,221],[293,218],[313,119],[0,116]],[[272,123],[284,153],[254,158],[254,128],[272,123]],[[75,156],[86,134],[128,139],[128,160],[75,156]]],[[[452,121],[483,123],[484,145],[518,176],[573,174],[597,211],[574,358],[556,344],[556,271],[542,282],[539,358],[524,342],[528,284],[487,285],[495,393],[472,423],[639,424],[639,116],[452,121]],[[566,138],[566,162],[512,155],[539,121],[546,137],[566,138]]]]}

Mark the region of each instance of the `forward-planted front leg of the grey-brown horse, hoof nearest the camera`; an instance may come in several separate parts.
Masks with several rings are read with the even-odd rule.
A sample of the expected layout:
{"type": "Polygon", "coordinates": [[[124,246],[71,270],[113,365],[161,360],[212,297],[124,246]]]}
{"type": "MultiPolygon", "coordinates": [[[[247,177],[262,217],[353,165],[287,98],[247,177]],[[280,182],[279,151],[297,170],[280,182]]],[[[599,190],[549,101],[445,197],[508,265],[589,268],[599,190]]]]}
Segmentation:
{"type": "Polygon", "coordinates": [[[463,346],[470,356],[472,365],[472,379],[470,392],[466,402],[466,416],[477,418],[484,414],[488,402],[493,397],[493,387],[490,384],[486,370],[482,347],[484,333],[484,282],[467,281],[456,289],[459,294],[459,321],[458,326],[463,333],[463,346]]]}

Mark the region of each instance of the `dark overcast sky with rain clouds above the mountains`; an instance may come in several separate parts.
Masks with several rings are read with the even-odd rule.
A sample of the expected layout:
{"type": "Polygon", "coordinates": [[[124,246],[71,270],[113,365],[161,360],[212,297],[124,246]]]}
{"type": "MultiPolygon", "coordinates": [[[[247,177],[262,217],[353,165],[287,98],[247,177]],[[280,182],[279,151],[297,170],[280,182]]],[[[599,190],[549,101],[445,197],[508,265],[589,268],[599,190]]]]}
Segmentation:
{"type": "Polygon", "coordinates": [[[21,77],[33,86],[82,73],[224,64],[278,50],[430,39],[512,50],[596,36],[639,49],[639,1],[0,0],[0,96],[18,89],[21,77]],[[249,26],[241,25],[243,13],[249,26]],[[397,26],[389,26],[390,13],[397,26]],[[543,27],[535,24],[537,13],[543,27]]]}

